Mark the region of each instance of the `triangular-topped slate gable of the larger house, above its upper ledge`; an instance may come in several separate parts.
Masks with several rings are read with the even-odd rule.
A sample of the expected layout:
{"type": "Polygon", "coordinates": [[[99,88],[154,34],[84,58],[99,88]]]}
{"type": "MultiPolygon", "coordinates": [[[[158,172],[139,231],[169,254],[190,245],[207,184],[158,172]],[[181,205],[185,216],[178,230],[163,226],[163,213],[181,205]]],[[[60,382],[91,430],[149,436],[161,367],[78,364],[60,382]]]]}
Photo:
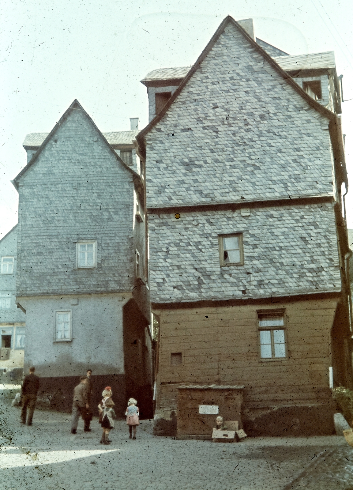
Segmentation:
{"type": "Polygon", "coordinates": [[[145,130],[147,207],[333,194],[330,113],[231,18],[145,130]]]}

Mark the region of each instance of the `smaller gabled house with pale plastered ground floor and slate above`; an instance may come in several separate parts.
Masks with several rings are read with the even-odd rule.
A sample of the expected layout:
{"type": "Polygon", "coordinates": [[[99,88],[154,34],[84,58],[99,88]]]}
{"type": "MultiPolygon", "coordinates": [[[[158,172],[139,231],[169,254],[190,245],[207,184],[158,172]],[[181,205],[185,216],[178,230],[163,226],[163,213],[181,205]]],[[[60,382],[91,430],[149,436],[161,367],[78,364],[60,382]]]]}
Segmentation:
{"type": "Polygon", "coordinates": [[[135,131],[99,131],[77,100],[47,134],[26,137],[19,192],[16,296],[26,316],[25,368],[41,396],[70,408],[93,369],[95,401],[116,412],[136,396],[151,416],[151,334],[143,176],[135,131]],[[44,141],[43,141],[44,139],[44,141]],[[127,153],[130,152],[130,157],[127,153]]]}

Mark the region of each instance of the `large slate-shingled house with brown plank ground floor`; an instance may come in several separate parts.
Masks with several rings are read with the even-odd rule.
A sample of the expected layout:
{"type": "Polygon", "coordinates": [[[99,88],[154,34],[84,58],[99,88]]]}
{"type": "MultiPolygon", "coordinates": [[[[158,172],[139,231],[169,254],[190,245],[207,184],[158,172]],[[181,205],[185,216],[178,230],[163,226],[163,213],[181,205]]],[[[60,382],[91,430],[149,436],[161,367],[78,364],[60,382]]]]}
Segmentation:
{"type": "Polygon", "coordinates": [[[245,385],[251,434],[332,433],[330,387],[352,387],[334,57],[274,60],[247,31],[227,17],[191,68],[142,80],[156,433],[181,384],[245,385]]]}

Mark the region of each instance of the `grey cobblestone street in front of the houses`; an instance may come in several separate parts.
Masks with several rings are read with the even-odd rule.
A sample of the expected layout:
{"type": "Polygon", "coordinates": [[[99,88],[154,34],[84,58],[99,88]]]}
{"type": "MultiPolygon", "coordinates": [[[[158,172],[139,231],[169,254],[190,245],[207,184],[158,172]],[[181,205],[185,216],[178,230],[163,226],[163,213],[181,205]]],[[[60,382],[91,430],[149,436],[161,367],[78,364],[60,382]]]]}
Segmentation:
{"type": "Polygon", "coordinates": [[[343,437],[248,438],[240,443],[154,437],[137,440],[117,421],[99,444],[97,419],[70,434],[70,415],[36,410],[31,427],[1,404],[1,490],[353,490],[353,449],[343,437]]]}

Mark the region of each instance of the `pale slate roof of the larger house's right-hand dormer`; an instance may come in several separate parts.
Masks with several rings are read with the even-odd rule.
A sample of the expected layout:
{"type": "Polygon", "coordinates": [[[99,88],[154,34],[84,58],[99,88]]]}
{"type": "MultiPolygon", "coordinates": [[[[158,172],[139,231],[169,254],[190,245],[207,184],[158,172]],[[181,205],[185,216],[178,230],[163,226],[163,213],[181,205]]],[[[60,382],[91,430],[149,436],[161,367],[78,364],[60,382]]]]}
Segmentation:
{"type": "Polygon", "coordinates": [[[274,60],[286,72],[336,67],[333,51],[299,54],[296,56],[277,56],[274,60]]]}

